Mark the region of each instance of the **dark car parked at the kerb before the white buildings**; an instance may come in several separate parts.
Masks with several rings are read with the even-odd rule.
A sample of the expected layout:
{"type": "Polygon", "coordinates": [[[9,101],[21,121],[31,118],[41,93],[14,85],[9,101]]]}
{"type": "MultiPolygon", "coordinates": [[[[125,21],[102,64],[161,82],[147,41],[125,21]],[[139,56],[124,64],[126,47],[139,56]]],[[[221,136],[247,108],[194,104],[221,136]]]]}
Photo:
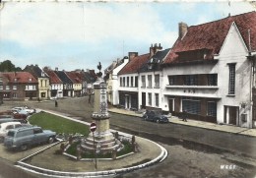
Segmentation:
{"type": "Polygon", "coordinates": [[[146,112],[143,115],[144,120],[146,121],[152,121],[157,123],[168,123],[169,120],[166,116],[161,115],[160,111],[156,110],[146,110],[146,112]]]}

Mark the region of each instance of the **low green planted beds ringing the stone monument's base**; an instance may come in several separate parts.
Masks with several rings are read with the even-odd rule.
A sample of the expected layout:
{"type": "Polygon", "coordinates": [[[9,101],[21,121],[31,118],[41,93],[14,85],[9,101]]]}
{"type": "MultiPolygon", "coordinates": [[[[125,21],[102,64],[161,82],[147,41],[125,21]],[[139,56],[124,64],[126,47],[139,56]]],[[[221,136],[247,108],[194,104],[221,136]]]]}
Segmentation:
{"type": "MultiPolygon", "coordinates": [[[[73,144],[66,150],[66,152],[67,152],[68,154],[77,156],[77,146],[78,146],[79,144],[80,144],[79,142],[73,143],[73,144]]],[[[132,145],[131,145],[129,142],[124,141],[124,142],[122,142],[122,144],[124,145],[124,148],[122,148],[120,151],[118,151],[118,152],[116,153],[116,156],[121,156],[121,155],[130,153],[130,152],[133,151],[132,145]]],[[[112,158],[112,153],[111,153],[111,152],[97,153],[97,154],[96,154],[96,157],[97,157],[97,158],[112,158]]],[[[84,153],[82,154],[82,158],[95,158],[95,154],[94,154],[94,152],[84,152],[84,153]]]]}

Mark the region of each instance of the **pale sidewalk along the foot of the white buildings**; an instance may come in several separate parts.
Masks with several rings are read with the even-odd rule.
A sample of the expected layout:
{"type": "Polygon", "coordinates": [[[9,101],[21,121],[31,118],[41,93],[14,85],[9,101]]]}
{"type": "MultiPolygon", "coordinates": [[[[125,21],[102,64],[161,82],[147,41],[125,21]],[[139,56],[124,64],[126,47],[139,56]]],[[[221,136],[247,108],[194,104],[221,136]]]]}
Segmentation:
{"type": "MultiPolygon", "coordinates": [[[[114,112],[118,114],[125,114],[125,115],[131,115],[135,117],[142,117],[142,113],[136,112],[136,111],[130,111],[126,109],[119,109],[115,107],[108,108],[109,112],[114,112]]],[[[199,127],[203,129],[209,129],[209,130],[215,130],[215,131],[221,131],[221,132],[227,132],[232,134],[239,134],[244,136],[250,136],[250,137],[256,137],[256,129],[248,129],[248,128],[241,128],[236,126],[230,126],[230,125],[218,125],[210,122],[203,122],[203,121],[196,121],[196,120],[190,120],[188,119],[188,122],[182,121],[180,118],[176,116],[169,117],[169,122],[173,124],[181,124],[191,127],[199,127]]]]}

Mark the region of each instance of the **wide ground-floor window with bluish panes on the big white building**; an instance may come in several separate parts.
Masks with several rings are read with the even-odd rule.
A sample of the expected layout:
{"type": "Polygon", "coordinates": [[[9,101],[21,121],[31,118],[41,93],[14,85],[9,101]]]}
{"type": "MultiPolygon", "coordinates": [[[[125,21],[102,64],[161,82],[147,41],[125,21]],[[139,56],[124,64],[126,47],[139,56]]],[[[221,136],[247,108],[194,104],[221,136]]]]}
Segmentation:
{"type": "Polygon", "coordinates": [[[186,110],[186,112],[190,114],[200,114],[201,111],[201,103],[199,100],[189,100],[183,99],[182,100],[182,110],[186,110]]]}

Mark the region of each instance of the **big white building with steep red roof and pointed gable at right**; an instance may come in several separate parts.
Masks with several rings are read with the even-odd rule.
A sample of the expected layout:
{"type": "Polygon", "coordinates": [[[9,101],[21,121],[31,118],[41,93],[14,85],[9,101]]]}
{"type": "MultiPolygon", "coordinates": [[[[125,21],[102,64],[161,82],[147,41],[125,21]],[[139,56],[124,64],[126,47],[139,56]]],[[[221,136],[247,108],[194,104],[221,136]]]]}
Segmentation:
{"type": "Polygon", "coordinates": [[[256,13],[187,27],[163,64],[163,107],[173,115],[255,127],[252,89],[256,50],[256,13]],[[244,21],[246,20],[246,21],[244,21]]]}

